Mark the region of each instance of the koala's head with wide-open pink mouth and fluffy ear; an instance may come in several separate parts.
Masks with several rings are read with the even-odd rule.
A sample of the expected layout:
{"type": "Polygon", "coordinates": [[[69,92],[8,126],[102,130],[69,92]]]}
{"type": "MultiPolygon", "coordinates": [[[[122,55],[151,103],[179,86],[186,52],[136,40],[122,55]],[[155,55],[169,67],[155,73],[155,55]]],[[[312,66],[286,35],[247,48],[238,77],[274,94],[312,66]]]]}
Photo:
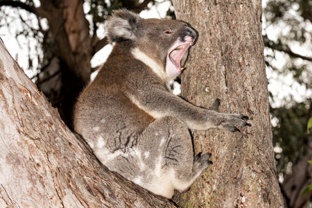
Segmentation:
{"type": "Polygon", "coordinates": [[[128,45],[143,51],[169,77],[175,77],[181,73],[197,33],[184,21],[143,19],[128,10],[118,10],[107,20],[107,37],[117,44],[131,42],[128,45]]]}

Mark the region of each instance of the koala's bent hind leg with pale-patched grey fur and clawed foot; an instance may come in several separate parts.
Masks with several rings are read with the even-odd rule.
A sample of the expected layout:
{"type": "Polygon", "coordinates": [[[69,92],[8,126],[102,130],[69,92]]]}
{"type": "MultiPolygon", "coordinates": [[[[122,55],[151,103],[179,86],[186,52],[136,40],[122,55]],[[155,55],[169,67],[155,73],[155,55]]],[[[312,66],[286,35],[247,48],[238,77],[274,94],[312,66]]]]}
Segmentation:
{"type": "Polygon", "coordinates": [[[210,154],[194,157],[187,125],[173,116],[151,123],[141,135],[139,149],[150,170],[141,186],[166,198],[174,189],[188,189],[211,164],[210,154]]]}

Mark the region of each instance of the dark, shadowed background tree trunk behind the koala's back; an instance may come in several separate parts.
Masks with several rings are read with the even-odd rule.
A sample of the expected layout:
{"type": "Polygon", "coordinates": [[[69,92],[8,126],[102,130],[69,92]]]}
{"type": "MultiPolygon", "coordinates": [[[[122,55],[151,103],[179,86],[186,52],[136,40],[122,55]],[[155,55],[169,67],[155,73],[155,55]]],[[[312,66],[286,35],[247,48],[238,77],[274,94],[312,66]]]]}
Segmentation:
{"type": "MultiPolygon", "coordinates": [[[[53,36],[53,54],[58,58],[60,70],[54,80],[42,82],[39,89],[48,89],[44,93],[54,107],[58,107],[62,119],[71,127],[72,107],[78,94],[89,82],[94,46],[89,34],[89,22],[83,12],[83,0],[51,1],[41,0],[42,17],[49,21],[49,33],[53,36]],[[52,83],[51,82],[55,82],[52,83]],[[58,87],[52,88],[56,85],[58,87]]],[[[49,49],[51,50],[51,49],[49,49]]],[[[51,55],[51,51],[49,51],[51,55]]],[[[55,71],[55,65],[50,62],[55,71]]],[[[51,76],[51,71],[44,71],[51,76]]],[[[53,73],[52,73],[53,74],[53,73]]],[[[41,80],[39,80],[40,83],[41,80]]]]}

